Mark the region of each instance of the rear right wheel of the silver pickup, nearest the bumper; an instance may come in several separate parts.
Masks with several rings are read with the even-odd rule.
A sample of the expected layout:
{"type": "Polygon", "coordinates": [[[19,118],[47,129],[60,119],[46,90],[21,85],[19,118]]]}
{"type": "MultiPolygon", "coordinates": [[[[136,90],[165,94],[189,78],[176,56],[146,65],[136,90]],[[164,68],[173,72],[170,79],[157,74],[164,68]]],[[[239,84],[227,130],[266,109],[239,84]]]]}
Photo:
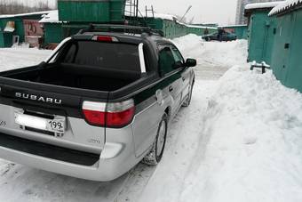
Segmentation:
{"type": "Polygon", "coordinates": [[[156,166],[163,158],[163,151],[166,144],[168,132],[168,115],[164,113],[160,124],[158,125],[155,142],[147,156],[143,158],[142,163],[149,166],[156,166]]]}

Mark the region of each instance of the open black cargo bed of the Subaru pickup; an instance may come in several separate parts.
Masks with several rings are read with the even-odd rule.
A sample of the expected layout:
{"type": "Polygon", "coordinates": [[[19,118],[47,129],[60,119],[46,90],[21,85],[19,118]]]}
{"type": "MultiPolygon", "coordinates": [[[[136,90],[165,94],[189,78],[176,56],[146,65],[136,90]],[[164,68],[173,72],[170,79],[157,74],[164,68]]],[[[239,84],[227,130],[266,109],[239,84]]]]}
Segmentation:
{"type": "Polygon", "coordinates": [[[47,85],[60,85],[87,90],[113,92],[139,80],[135,71],[101,69],[76,64],[53,64],[7,72],[3,77],[47,85]]]}

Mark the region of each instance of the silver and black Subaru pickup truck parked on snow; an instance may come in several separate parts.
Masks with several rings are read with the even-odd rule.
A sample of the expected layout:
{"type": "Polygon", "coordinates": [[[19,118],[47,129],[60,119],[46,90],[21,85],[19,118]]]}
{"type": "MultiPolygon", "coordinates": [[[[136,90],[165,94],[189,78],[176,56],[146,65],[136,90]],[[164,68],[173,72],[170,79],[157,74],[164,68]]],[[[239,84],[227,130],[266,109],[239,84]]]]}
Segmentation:
{"type": "Polygon", "coordinates": [[[99,182],[156,165],[195,65],[152,29],[83,29],[41,64],[0,73],[0,158],[99,182]]]}

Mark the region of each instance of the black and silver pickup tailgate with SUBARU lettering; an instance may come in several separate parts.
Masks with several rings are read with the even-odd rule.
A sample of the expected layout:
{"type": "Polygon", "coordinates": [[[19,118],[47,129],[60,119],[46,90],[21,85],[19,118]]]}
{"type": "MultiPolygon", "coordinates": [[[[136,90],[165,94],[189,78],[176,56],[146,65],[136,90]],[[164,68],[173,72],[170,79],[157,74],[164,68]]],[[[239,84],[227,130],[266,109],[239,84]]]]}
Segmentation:
{"type": "MultiPolygon", "coordinates": [[[[107,94],[0,77],[0,133],[16,138],[16,144],[23,144],[19,147],[21,151],[26,148],[28,153],[38,154],[39,148],[44,149],[40,155],[50,155],[49,158],[51,150],[61,152],[62,156],[68,151],[83,152],[83,156],[91,154],[90,157],[100,155],[106,129],[86,123],[82,104],[106,102],[107,94]]],[[[12,138],[6,136],[5,140],[6,146],[11,147],[12,138]]]]}

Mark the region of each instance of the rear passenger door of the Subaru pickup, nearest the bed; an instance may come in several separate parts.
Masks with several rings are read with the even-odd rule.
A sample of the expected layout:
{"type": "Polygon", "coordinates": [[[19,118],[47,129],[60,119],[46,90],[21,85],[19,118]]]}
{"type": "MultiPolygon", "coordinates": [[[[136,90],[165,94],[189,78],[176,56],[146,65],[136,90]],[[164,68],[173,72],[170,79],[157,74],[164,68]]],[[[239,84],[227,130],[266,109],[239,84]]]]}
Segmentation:
{"type": "Polygon", "coordinates": [[[176,60],[171,50],[171,44],[159,44],[159,71],[168,86],[163,92],[171,97],[171,115],[174,116],[179,109],[182,99],[181,69],[176,68],[176,60]]]}

